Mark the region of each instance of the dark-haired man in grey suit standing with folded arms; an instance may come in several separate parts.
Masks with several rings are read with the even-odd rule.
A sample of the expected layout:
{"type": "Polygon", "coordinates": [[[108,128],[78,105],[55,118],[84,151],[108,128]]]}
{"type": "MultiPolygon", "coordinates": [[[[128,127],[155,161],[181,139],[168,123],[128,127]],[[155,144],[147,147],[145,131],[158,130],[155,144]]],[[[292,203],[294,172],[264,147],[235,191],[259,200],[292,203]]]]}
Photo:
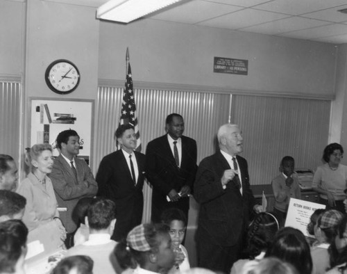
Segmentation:
{"type": "Polygon", "coordinates": [[[72,211],[78,200],[83,197],[93,197],[98,191],[98,185],[92,175],[92,170],[83,159],[76,156],[80,150],[80,137],[74,130],[65,130],[58,134],[56,140],[59,156],[54,159],[51,178],[58,207],[66,211],[60,211],[60,218],[67,230],[67,248],[73,245],[76,223],[71,218],[72,211]]]}

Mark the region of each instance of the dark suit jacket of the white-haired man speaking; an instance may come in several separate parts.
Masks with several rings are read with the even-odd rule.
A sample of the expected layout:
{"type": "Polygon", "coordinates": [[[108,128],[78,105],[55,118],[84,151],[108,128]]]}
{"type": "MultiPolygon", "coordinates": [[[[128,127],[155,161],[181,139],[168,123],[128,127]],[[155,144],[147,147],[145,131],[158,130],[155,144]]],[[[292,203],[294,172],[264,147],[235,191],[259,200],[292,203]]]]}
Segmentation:
{"type": "Polygon", "coordinates": [[[216,245],[235,245],[248,225],[255,198],[250,188],[246,159],[236,156],[242,179],[242,194],[235,179],[223,189],[221,177],[230,169],[218,151],[201,161],[194,183],[194,198],[200,203],[197,237],[211,239],[216,245]]]}

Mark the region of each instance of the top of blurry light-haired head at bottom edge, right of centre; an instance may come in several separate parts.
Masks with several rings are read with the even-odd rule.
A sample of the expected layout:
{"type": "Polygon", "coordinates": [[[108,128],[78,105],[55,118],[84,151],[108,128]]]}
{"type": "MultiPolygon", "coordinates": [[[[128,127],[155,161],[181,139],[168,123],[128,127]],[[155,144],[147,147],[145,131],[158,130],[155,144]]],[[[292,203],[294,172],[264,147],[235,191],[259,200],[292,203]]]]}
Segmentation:
{"type": "Polygon", "coordinates": [[[298,274],[298,271],[285,261],[269,257],[260,261],[248,261],[239,274],[298,274]]]}

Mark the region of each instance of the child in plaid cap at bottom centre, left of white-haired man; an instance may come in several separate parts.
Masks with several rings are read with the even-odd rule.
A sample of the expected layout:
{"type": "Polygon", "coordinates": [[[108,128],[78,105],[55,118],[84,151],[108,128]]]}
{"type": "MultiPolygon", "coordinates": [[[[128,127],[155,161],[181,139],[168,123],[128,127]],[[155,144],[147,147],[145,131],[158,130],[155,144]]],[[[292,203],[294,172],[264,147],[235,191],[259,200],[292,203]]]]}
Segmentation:
{"type": "Polygon", "coordinates": [[[175,264],[169,227],[164,224],[134,227],[114,252],[119,265],[115,268],[136,268],[135,274],[167,273],[175,264]]]}

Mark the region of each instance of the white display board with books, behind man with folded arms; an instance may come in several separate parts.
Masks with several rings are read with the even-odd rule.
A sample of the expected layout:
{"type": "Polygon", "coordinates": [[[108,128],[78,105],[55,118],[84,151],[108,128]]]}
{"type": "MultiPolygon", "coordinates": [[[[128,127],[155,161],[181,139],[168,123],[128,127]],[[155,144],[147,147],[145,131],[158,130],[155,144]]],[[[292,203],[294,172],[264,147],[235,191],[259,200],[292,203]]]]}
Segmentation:
{"type": "Polygon", "coordinates": [[[80,136],[78,158],[90,165],[92,158],[94,101],[31,97],[30,145],[49,143],[58,156],[56,138],[61,131],[73,129],[80,136]]]}

